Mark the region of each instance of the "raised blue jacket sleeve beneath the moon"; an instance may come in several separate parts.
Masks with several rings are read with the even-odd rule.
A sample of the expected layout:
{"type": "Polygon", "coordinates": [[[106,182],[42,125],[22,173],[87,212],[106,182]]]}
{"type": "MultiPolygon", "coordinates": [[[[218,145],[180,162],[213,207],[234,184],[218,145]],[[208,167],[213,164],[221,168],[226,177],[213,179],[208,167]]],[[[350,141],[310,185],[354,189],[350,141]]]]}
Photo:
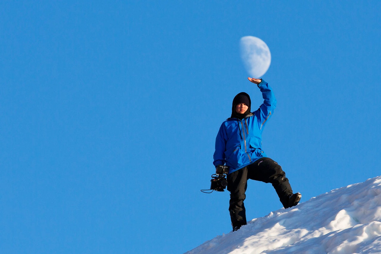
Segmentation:
{"type": "Polygon", "coordinates": [[[277,99],[275,99],[272,88],[266,81],[262,80],[262,82],[258,84],[258,87],[261,89],[264,101],[255,113],[259,120],[259,129],[262,130],[266,124],[266,121],[271,117],[275,107],[277,106],[277,99]]]}

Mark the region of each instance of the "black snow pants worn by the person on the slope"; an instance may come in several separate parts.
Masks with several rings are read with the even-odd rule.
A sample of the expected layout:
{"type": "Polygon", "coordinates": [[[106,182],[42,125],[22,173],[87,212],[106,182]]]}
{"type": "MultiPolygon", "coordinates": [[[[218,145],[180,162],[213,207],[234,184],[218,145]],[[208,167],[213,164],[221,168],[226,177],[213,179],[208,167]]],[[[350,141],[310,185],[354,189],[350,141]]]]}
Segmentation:
{"type": "Polygon", "coordinates": [[[227,175],[227,190],[230,191],[229,212],[233,228],[247,224],[243,201],[246,198],[248,179],[272,183],[284,207],[288,206],[289,196],[293,194],[282,167],[270,158],[261,158],[227,175]]]}

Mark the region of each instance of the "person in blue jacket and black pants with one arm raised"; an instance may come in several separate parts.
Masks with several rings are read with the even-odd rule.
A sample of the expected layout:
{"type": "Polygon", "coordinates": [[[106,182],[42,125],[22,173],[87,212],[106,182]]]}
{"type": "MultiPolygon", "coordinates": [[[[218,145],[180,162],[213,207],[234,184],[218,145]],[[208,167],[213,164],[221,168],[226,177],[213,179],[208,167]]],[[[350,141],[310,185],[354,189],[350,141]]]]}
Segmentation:
{"type": "Polygon", "coordinates": [[[215,167],[229,166],[227,190],[233,231],[247,224],[243,201],[248,179],[271,183],[284,208],[296,206],[301,199],[300,193],[293,194],[282,167],[262,150],[262,132],[277,104],[272,88],[262,79],[248,77],[248,80],[257,84],[264,102],[251,113],[247,93],[234,97],[231,117],[219,128],[213,155],[215,167]]]}

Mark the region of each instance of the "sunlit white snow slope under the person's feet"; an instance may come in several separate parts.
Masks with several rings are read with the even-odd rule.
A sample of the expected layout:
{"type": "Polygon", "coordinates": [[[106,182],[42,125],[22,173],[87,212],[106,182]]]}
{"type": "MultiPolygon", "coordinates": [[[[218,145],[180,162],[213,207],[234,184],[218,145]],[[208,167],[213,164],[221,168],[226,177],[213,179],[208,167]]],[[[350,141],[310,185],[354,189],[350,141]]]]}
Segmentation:
{"type": "Polygon", "coordinates": [[[332,190],[253,219],[186,254],[381,253],[380,193],[381,176],[332,190]]]}

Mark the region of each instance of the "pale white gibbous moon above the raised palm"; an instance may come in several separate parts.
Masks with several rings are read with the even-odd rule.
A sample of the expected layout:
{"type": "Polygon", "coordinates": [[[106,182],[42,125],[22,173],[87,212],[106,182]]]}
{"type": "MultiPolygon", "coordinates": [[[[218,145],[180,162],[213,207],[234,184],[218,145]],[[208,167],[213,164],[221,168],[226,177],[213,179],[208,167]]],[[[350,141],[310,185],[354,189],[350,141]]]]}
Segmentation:
{"type": "Polygon", "coordinates": [[[252,77],[263,76],[270,67],[271,53],[266,43],[254,36],[244,36],[240,40],[241,58],[252,77]]]}

